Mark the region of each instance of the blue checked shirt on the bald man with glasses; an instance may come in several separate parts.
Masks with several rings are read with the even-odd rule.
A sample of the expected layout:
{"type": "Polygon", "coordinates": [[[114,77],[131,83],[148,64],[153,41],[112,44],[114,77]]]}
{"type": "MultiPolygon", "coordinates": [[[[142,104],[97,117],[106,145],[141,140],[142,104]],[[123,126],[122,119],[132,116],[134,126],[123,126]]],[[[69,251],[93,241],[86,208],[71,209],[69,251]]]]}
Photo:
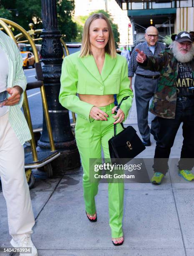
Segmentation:
{"type": "MultiPolygon", "coordinates": [[[[144,54],[146,54],[146,56],[158,56],[158,54],[160,54],[162,51],[164,51],[166,46],[164,44],[160,43],[160,42],[157,42],[154,54],[149,49],[149,46],[148,46],[147,42],[138,44],[135,47],[135,49],[137,49],[137,48],[140,51],[144,51],[144,54]]],[[[140,67],[137,64],[137,61],[136,61],[137,52],[135,51],[135,49],[132,51],[131,58],[129,60],[129,64],[128,64],[128,77],[133,77],[134,73],[135,74],[141,74],[141,75],[144,75],[144,76],[156,76],[156,75],[159,75],[160,72],[153,72],[151,70],[143,69],[142,67],[140,67]]]]}

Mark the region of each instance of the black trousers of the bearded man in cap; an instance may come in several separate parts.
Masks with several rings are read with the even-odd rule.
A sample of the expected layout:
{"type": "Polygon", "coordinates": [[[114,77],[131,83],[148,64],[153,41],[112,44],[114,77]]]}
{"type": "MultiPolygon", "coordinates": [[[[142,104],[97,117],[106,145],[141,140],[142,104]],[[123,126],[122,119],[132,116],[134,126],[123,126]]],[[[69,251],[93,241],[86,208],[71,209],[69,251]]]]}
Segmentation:
{"type": "Polygon", "coordinates": [[[194,166],[194,100],[176,102],[175,119],[159,118],[158,141],[154,155],[154,172],[166,174],[168,160],[176,133],[183,122],[183,145],[179,169],[191,170],[194,166]]]}

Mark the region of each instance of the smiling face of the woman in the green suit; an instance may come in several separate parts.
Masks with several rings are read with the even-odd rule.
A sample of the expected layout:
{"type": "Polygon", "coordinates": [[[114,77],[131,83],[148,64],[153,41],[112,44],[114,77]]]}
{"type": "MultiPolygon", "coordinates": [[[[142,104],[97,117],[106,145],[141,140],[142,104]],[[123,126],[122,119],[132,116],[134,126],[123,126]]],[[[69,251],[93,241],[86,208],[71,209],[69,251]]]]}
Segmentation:
{"type": "Polygon", "coordinates": [[[104,49],[108,43],[108,25],[104,19],[96,19],[90,24],[89,40],[91,50],[104,49]]]}

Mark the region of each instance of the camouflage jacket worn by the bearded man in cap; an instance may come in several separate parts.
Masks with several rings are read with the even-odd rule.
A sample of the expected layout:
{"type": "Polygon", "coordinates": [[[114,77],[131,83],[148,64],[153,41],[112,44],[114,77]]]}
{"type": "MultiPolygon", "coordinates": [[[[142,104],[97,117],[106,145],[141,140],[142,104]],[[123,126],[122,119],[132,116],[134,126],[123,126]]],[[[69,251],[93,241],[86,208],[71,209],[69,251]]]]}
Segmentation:
{"type": "MultiPolygon", "coordinates": [[[[140,66],[160,72],[158,86],[149,111],[162,118],[174,119],[178,64],[172,51],[168,48],[159,54],[159,57],[147,57],[147,61],[140,66]]],[[[194,59],[191,61],[191,69],[194,77],[194,59]]]]}

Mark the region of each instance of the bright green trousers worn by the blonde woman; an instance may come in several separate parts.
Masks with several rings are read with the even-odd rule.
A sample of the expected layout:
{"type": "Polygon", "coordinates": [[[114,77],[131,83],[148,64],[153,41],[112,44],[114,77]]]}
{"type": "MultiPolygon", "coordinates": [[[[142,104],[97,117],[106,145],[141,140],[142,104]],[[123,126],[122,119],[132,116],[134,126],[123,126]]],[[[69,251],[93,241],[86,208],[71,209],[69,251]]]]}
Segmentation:
{"type": "MultiPolygon", "coordinates": [[[[108,140],[114,134],[111,109],[114,104],[101,107],[101,110],[108,114],[107,121],[88,120],[78,116],[76,120],[76,143],[81,156],[83,167],[83,198],[86,205],[86,212],[93,215],[96,213],[95,196],[98,193],[98,182],[91,183],[89,179],[89,159],[101,159],[101,146],[104,158],[110,158],[108,150],[108,140]]],[[[122,131],[120,124],[117,125],[117,133],[122,131]]],[[[112,238],[123,236],[123,183],[108,183],[108,207],[109,224],[111,227],[112,238]]]]}

